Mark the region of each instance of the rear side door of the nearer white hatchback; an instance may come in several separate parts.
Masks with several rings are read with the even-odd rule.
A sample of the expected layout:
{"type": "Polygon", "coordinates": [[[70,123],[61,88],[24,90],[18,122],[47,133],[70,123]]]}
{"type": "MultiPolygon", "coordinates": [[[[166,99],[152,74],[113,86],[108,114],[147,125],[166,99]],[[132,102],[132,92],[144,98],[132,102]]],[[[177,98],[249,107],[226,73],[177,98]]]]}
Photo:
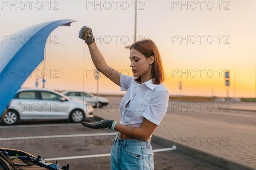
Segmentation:
{"type": "Polygon", "coordinates": [[[20,114],[20,119],[37,119],[41,116],[40,102],[37,91],[21,91],[9,107],[20,114]]]}

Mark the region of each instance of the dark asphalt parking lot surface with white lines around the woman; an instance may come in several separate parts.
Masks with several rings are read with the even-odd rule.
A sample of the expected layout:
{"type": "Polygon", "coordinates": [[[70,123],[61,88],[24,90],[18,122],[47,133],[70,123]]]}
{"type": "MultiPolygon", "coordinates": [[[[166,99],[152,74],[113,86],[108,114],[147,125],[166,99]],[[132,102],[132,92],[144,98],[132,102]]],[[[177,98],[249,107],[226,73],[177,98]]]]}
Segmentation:
{"type": "MultiPolygon", "coordinates": [[[[99,118],[89,119],[96,122],[99,118]]],[[[27,121],[0,127],[0,147],[41,155],[52,163],[70,165],[70,170],[108,170],[116,132],[95,130],[67,121],[27,121]]],[[[224,170],[193,156],[154,142],[155,170],[224,170]],[[162,150],[159,150],[162,149],[162,150]]]]}

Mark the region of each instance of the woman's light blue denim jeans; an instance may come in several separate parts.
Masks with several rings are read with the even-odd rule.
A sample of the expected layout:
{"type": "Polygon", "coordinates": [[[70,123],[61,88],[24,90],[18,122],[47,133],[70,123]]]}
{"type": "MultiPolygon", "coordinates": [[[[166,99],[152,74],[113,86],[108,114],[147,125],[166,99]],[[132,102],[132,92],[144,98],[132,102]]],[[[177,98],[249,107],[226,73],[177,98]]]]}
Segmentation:
{"type": "Polygon", "coordinates": [[[121,139],[116,135],[111,149],[111,170],[154,170],[150,140],[121,139]]]}

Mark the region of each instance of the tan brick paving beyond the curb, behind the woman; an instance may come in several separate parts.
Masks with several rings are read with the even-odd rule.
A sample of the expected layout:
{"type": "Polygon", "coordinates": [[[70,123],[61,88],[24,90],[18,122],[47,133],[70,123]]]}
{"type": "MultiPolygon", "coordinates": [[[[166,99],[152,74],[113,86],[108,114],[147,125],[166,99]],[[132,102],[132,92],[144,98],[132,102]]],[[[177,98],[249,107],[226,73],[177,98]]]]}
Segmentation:
{"type": "MultiPolygon", "coordinates": [[[[232,106],[238,109],[244,108],[244,105],[232,106]]],[[[95,115],[105,119],[120,120],[119,108],[116,111],[114,108],[110,111],[97,109],[95,115]]],[[[231,124],[166,114],[160,126],[154,131],[154,135],[256,169],[255,125],[231,124]]]]}

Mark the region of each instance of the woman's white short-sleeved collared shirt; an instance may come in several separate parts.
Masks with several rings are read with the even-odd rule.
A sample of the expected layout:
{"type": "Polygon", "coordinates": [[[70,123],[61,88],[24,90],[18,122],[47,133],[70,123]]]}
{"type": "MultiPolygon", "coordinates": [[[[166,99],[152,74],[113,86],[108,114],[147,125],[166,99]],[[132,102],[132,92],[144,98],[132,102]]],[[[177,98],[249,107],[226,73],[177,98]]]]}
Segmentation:
{"type": "Polygon", "coordinates": [[[126,91],[120,103],[120,124],[140,127],[145,117],[155,125],[160,125],[167,111],[168,90],[163,83],[154,85],[152,79],[142,84],[134,79],[125,74],[120,77],[121,91],[126,91]]]}

